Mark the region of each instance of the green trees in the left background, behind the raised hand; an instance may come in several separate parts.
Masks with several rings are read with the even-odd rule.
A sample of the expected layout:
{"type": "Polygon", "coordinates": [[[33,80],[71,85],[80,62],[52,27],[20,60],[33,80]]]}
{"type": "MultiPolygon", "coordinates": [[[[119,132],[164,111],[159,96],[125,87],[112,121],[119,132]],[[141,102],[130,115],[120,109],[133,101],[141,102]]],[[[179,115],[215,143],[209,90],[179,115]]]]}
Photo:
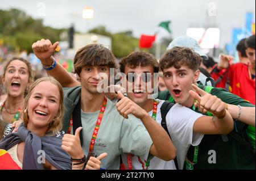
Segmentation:
{"type": "Polygon", "coordinates": [[[50,39],[58,41],[64,31],[45,27],[42,19],[33,19],[18,9],[0,10],[0,38],[10,49],[32,52],[31,45],[36,40],[50,39]]]}

